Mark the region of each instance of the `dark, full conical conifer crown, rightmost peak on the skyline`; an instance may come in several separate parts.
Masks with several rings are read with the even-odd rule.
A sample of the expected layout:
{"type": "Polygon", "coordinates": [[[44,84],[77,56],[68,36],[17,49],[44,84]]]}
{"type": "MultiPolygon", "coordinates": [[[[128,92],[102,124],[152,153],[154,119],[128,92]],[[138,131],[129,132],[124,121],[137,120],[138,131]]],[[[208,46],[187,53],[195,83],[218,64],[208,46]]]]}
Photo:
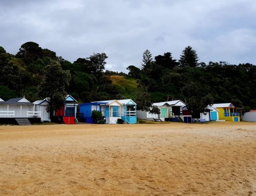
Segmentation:
{"type": "Polygon", "coordinates": [[[198,56],[196,53],[196,50],[192,49],[191,46],[186,47],[183,51],[182,51],[182,55],[180,55],[180,65],[182,67],[196,67],[198,65],[198,56]]]}

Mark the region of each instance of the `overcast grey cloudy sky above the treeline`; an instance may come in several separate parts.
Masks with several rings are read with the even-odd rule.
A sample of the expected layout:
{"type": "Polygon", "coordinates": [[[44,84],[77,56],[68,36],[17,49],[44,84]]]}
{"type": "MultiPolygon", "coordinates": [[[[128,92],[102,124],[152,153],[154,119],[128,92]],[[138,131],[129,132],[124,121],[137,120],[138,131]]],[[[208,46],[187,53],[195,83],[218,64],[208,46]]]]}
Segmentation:
{"type": "Polygon", "coordinates": [[[105,52],[118,72],[187,46],[200,62],[256,64],[256,0],[0,0],[0,46],[29,41],[70,62],[105,52]]]}

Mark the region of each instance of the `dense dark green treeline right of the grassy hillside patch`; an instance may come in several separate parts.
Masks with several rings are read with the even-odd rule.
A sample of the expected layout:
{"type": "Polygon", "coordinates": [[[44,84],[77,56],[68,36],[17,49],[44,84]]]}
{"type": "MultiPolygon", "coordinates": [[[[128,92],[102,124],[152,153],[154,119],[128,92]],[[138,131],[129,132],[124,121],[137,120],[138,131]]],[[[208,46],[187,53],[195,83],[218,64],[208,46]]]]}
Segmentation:
{"type": "Polygon", "coordinates": [[[256,66],[249,63],[198,63],[196,51],[189,46],[179,61],[170,52],[153,59],[146,50],[141,69],[128,68],[128,74],[138,79],[153,102],[182,99],[194,112],[207,104],[224,102],[245,111],[256,108],[256,66]]]}

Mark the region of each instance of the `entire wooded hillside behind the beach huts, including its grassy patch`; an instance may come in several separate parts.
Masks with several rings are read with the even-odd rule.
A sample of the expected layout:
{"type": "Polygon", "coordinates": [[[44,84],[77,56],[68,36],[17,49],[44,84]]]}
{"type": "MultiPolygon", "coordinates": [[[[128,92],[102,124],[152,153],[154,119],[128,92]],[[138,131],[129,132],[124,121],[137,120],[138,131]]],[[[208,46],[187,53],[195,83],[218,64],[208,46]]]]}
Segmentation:
{"type": "Polygon", "coordinates": [[[198,63],[196,51],[190,46],[179,60],[171,52],[153,57],[146,50],[141,66],[128,66],[128,74],[104,71],[106,59],[105,53],[94,53],[71,63],[34,42],[23,44],[16,55],[0,47],[0,98],[25,95],[34,101],[48,96],[43,85],[49,85],[46,74],[55,65],[56,70],[58,66],[63,70],[53,73],[56,80],[61,78],[58,74],[63,74],[62,83],[54,83],[56,88],[64,84],[62,94],[71,94],[80,102],[133,98],[138,108],[147,108],[151,102],[182,99],[193,111],[221,102],[232,102],[246,111],[256,108],[256,66],[252,64],[198,63]]]}

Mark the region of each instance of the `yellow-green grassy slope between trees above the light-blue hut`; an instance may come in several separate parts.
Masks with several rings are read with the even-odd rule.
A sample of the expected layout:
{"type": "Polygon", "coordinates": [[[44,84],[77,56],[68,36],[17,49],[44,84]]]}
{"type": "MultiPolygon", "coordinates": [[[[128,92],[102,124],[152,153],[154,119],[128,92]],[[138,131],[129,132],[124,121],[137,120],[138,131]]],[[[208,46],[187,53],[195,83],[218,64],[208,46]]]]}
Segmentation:
{"type": "Polygon", "coordinates": [[[136,99],[137,83],[134,78],[121,75],[111,75],[112,84],[117,88],[120,98],[136,99]]]}

